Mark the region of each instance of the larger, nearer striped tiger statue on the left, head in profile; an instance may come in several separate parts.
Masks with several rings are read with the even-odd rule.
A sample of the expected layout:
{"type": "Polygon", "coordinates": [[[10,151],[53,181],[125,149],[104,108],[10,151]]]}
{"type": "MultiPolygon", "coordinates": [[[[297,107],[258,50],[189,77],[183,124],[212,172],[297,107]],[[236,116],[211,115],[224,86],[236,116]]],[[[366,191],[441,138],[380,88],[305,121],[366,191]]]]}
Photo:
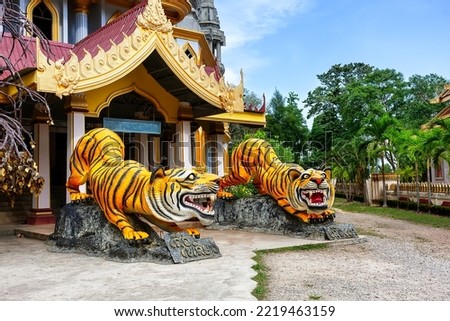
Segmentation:
{"type": "MultiPolygon", "coordinates": [[[[123,159],[121,138],[106,128],[93,129],[78,141],[70,159],[66,183],[72,202],[94,198],[109,222],[125,239],[142,240],[146,232],[136,231],[126,213],[137,213],[165,231],[182,231],[176,222],[198,218],[203,225],[213,222],[213,203],[219,176],[176,168],[148,171],[142,164],[123,159]],[[88,182],[91,194],[80,193],[88,182]]],[[[199,236],[196,229],[186,229],[199,236]]]]}

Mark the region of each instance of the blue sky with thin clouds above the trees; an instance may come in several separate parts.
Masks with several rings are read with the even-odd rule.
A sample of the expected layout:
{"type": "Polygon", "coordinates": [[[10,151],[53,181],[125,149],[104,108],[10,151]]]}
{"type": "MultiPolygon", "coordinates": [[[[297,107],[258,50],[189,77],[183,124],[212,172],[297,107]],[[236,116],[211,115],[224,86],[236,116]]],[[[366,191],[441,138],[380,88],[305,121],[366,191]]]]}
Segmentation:
{"type": "MultiPolygon", "coordinates": [[[[300,100],[334,64],[363,62],[450,81],[448,0],[215,0],[225,80],[300,100]]],[[[301,105],[301,104],[300,104],[301,105]]]]}

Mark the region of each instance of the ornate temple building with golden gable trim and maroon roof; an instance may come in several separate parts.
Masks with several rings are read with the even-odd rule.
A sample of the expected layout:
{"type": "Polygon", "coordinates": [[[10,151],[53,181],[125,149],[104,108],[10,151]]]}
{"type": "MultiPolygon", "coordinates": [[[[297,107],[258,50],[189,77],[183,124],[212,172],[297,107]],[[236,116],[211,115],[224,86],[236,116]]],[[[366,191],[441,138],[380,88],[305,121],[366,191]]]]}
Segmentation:
{"type": "MultiPolygon", "coordinates": [[[[150,170],[224,175],[229,124],[265,124],[264,108],[244,104],[242,73],[239,84],[224,78],[226,39],[213,0],[13,2],[50,41],[24,35],[31,52],[24,54],[6,30],[0,54],[17,57],[23,82],[45,96],[52,122],[39,104],[22,107],[46,183],[38,197],[24,196],[13,209],[0,194],[0,224],[53,221],[68,201],[68,159],[92,128],[116,131],[126,158],[150,170]]],[[[0,104],[8,103],[4,97],[0,92],[0,104]]]]}

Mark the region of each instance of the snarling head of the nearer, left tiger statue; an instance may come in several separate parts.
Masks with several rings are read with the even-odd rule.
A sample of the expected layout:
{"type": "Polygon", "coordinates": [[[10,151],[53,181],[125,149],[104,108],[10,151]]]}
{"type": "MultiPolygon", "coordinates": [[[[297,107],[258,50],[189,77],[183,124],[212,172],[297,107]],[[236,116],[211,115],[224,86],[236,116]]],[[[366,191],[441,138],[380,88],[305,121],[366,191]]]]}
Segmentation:
{"type": "Polygon", "coordinates": [[[163,221],[198,218],[203,225],[214,220],[219,176],[191,169],[157,169],[150,179],[147,202],[153,215],[163,221]]]}

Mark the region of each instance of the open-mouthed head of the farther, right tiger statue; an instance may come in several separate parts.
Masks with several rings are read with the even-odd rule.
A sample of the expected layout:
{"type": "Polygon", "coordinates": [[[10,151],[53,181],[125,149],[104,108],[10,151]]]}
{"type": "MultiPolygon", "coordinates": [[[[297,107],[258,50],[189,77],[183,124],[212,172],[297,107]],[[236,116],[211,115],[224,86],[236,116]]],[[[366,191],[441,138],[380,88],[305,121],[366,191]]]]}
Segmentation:
{"type": "Polygon", "coordinates": [[[291,184],[288,200],[291,206],[307,213],[323,214],[333,206],[334,185],[330,170],[309,168],[300,171],[297,168],[289,172],[291,184]]]}

